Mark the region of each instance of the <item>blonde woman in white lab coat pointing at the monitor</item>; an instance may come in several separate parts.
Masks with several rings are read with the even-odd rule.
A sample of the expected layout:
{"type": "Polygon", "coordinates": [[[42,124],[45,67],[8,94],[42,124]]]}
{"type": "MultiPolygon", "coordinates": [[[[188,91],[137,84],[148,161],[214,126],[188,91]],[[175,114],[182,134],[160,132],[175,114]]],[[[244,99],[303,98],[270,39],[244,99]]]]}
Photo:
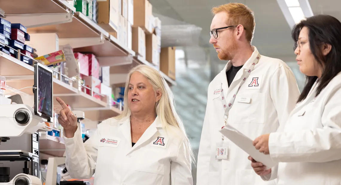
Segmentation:
{"type": "Polygon", "coordinates": [[[160,73],[139,65],[128,74],[124,110],[104,120],[84,144],[75,115],[60,99],[66,167],[94,185],[192,185],[193,152],[160,73]]]}

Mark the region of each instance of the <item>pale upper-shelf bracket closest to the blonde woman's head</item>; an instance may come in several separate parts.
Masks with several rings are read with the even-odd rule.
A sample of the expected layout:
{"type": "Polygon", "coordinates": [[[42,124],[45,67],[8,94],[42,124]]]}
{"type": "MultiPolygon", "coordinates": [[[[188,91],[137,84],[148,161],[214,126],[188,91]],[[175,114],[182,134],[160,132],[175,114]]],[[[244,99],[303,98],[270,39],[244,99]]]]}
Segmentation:
{"type": "Polygon", "coordinates": [[[122,66],[122,65],[129,65],[133,63],[133,56],[113,56],[113,57],[97,57],[98,62],[100,63],[101,67],[104,66],[122,66]]]}

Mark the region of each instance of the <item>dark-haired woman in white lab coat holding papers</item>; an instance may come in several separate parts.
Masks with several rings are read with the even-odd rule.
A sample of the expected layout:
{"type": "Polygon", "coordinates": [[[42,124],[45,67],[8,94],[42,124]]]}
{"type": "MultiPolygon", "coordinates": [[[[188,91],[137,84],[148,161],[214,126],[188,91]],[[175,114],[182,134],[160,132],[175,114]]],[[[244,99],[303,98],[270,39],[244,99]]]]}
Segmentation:
{"type": "Polygon", "coordinates": [[[293,30],[295,54],[307,84],[284,128],[253,142],[277,167],[254,171],[278,185],[341,184],[341,23],[328,15],[303,20],[293,30]]]}

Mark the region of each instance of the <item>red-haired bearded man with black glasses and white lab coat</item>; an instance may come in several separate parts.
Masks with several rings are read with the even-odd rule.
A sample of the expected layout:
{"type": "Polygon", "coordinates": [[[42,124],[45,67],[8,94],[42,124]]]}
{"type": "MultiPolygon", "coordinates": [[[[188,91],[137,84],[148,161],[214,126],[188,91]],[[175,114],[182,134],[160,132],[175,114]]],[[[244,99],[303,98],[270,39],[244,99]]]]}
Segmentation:
{"type": "Polygon", "coordinates": [[[275,132],[296,105],[295,76],[282,60],[263,56],[251,45],[255,21],[246,5],[228,3],[212,13],[210,43],[228,62],[208,87],[197,185],[273,184],[263,181],[249,155],[219,130],[228,124],[251,140],[275,132]]]}

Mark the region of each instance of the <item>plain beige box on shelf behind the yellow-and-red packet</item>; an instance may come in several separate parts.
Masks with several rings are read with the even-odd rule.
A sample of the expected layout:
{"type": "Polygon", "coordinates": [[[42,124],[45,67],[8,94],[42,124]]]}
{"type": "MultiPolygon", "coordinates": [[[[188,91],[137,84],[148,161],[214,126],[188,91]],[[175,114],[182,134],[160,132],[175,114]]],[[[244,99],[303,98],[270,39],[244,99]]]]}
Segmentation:
{"type": "Polygon", "coordinates": [[[35,48],[38,56],[59,51],[59,37],[57,33],[30,33],[30,41],[26,41],[25,44],[35,48]]]}

